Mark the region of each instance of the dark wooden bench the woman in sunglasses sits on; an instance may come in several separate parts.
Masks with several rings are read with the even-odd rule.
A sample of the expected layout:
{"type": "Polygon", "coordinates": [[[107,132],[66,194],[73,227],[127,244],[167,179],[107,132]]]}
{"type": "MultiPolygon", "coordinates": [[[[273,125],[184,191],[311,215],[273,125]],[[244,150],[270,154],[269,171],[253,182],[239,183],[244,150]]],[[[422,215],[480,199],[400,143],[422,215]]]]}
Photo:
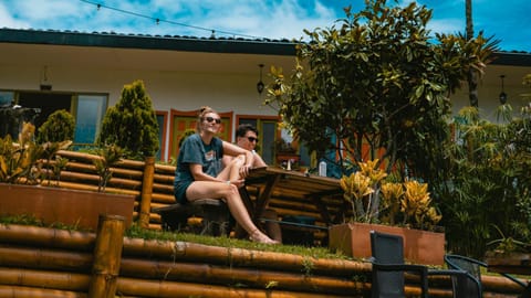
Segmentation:
{"type": "Polygon", "coordinates": [[[201,235],[228,235],[230,213],[227,204],[221,200],[200,199],[187,204],[175,203],[152,210],[160,214],[163,230],[198,232],[201,235]],[[201,217],[200,231],[188,226],[188,219],[201,217]]]}

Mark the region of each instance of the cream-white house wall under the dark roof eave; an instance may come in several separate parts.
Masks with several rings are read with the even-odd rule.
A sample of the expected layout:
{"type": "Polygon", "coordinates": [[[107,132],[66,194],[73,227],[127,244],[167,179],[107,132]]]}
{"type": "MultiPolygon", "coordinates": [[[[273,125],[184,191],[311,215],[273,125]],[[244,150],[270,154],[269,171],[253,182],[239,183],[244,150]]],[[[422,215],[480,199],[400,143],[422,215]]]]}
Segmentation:
{"type": "MultiPolygon", "coordinates": [[[[269,67],[281,66],[290,73],[294,56],[0,44],[0,89],[38,91],[46,67],[53,92],[108,94],[110,106],[116,104],[125,84],[143,79],[156,110],[208,105],[220,113],[275,116],[275,110],[262,105],[264,94],[259,97],[256,89],[259,64],[266,65],[262,81],[267,84],[269,67]]],[[[528,73],[531,67],[489,65],[479,85],[483,114],[494,119],[501,74],[508,103],[519,110],[524,103],[519,94],[531,92],[521,84],[528,73]]],[[[468,105],[466,85],[451,102],[454,114],[468,105]]]]}

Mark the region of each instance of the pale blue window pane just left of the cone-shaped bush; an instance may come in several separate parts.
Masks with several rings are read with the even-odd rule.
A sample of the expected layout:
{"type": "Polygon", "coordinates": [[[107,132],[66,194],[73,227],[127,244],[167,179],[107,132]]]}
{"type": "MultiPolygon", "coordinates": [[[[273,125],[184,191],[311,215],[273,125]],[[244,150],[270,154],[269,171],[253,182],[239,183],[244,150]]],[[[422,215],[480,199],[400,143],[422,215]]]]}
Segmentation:
{"type": "Polygon", "coordinates": [[[79,95],[75,117],[76,143],[94,143],[107,107],[105,95],[79,95]]]}

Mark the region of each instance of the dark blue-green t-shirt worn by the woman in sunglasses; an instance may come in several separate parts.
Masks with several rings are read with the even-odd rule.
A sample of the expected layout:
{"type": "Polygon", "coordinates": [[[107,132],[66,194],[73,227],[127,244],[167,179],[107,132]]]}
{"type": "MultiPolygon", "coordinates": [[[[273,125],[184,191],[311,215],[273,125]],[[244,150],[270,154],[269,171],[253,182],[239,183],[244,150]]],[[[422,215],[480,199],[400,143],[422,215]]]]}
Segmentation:
{"type": "Polygon", "coordinates": [[[221,171],[222,156],[223,142],[219,138],[214,137],[209,145],[204,143],[198,134],[186,138],[180,147],[175,170],[174,194],[177,202],[186,203],[188,201],[186,189],[194,182],[190,163],[201,164],[204,173],[217,177],[221,171]]]}

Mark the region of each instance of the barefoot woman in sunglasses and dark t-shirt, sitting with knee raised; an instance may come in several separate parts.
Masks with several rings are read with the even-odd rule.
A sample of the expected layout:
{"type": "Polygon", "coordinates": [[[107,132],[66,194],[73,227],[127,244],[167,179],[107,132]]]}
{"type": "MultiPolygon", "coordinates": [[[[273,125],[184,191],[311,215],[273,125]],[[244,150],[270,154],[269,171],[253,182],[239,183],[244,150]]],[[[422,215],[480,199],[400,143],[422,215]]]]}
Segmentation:
{"type": "Polygon", "coordinates": [[[277,244],[252,223],[238,189],[252,164],[252,152],[216,137],[221,118],[210,107],[202,107],[197,132],[183,142],[175,172],[175,198],[179,203],[199,199],[225,200],[235,220],[253,242],[277,244]],[[237,157],[221,170],[223,155],[237,157]]]}

